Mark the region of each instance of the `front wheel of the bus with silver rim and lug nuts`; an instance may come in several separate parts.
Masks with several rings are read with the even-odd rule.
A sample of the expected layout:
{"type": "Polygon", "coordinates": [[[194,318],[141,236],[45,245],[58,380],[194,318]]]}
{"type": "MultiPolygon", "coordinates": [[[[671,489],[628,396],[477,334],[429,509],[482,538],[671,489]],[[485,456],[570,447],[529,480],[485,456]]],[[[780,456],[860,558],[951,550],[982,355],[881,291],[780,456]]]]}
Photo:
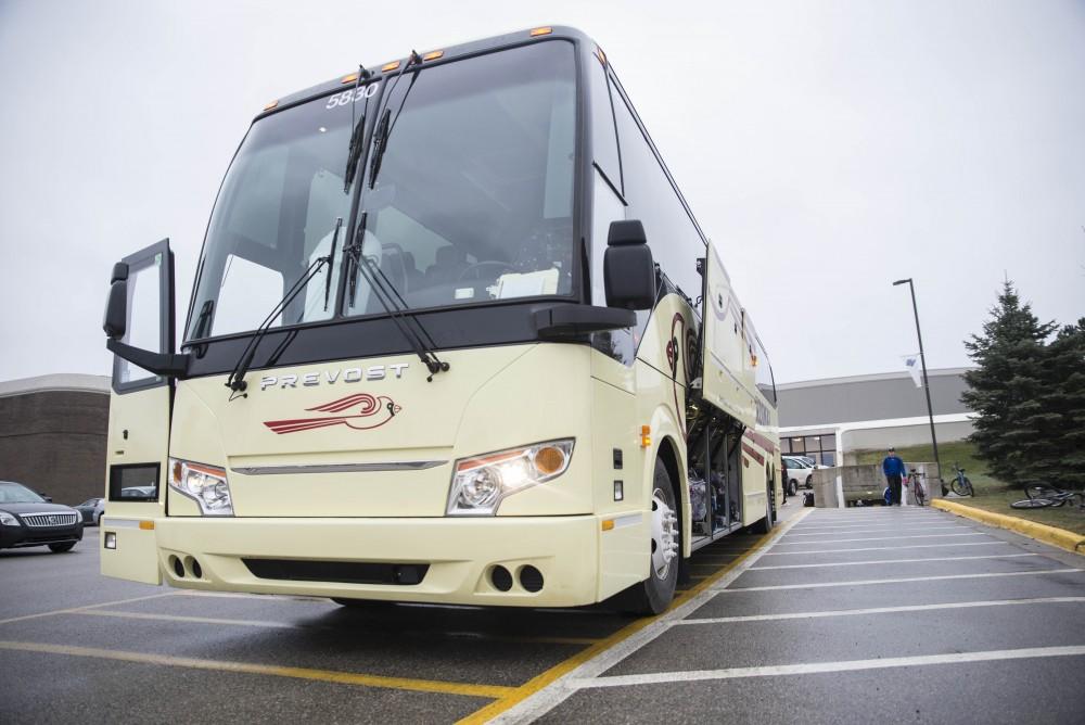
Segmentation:
{"type": "Polygon", "coordinates": [[[675,596],[678,564],[681,560],[681,525],[671,475],[663,461],[655,459],[652,485],[652,557],[648,578],[627,590],[626,608],[637,614],[659,614],[675,596]]]}

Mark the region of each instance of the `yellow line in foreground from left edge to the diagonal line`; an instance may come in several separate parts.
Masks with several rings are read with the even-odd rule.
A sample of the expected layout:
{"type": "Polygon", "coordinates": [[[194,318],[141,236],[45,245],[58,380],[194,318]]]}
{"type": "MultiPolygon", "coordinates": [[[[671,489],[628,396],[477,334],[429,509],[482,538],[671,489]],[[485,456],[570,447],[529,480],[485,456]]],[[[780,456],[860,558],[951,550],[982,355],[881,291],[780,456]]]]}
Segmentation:
{"type": "Polygon", "coordinates": [[[381,675],[363,675],[354,672],[336,672],[334,670],[310,670],[308,667],[284,667],[273,664],[257,664],[255,662],[227,662],[222,660],[197,660],[189,657],[171,657],[167,654],[150,654],[146,652],[127,652],[93,647],[72,647],[67,645],[48,645],[33,641],[0,641],[0,649],[23,652],[47,652],[69,657],[92,657],[139,664],[159,664],[171,667],[190,667],[193,670],[212,670],[217,672],[240,672],[250,675],[271,675],[275,677],[292,677],[295,679],[311,679],[340,685],[361,685],[365,687],[384,687],[417,692],[439,692],[442,695],[467,695],[470,697],[502,698],[514,691],[513,687],[500,685],[471,685],[465,683],[449,683],[434,679],[412,679],[410,677],[384,677],[381,675]]]}

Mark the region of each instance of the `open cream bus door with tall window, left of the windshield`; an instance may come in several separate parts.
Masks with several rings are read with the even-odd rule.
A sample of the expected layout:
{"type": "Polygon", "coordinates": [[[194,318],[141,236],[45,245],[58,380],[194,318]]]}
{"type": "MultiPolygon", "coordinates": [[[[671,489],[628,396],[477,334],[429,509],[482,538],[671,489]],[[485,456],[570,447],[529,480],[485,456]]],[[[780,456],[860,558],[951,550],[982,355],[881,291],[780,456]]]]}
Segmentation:
{"type": "Polygon", "coordinates": [[[155,519],[166,514],[173,378],[122,357],[166,359],[174,352],[174,254],[163,240],[114,267],[106,306],[113,349],[102,573],[161,584],[155,519]],[[119,343],[119,344],[118,344],[119,343]]]}

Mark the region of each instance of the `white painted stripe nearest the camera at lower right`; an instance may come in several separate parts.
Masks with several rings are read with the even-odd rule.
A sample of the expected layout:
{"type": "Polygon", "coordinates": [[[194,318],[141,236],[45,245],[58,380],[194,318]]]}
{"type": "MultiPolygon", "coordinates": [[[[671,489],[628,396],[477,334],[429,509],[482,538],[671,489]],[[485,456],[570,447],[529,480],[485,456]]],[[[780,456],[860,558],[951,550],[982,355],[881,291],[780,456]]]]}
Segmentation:
{"type": "Polygon", "coordinates": [[[1001,660],[1025,660],[1048,657],[1080,657],[1083,654],[1085,654],[1085,646],[1030,647],[1024,649],[996,649],[984,652],[957,652],[953,654],[886,657],[877,660],[808,662],[802,664],[777,664],[758,667],[730,667],[727,670],[694,670],[692,672],[653,672],[642,675],[612,675],[610,677],[576,679],[571,682],[569,685],[573,689],[592,689],[599,687],[628,687],[630,685],[656,685],[661,683],[676,682],[688,683],[706,679],[810,675],[827,672],[858,672],[863,670],[916,667],[931,664],[965,664],[968,662],[997,662],[1001,660]]]}

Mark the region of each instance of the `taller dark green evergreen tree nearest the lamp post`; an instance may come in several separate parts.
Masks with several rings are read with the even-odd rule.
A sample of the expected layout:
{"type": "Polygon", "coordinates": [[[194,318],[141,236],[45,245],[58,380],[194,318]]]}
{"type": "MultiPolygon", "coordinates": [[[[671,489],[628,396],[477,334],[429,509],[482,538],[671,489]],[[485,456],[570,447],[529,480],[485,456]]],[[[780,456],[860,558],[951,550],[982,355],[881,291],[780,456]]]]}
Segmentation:
{"type": "Polygon", "coordinates": [[[1044,396],[1047,349],[1054,322],[1041,322],[1030,305],[1021,304],[1007,280],[983,326],[982,335],[965,341],[979,366],[965,373],[969,390],[961,400],[980,414],[971,440],[991,473],[1004,481],[1026,484],[1042,470],[1036,461],[1049,456],[1045,435],[1056,424],[1044,396]]]}

